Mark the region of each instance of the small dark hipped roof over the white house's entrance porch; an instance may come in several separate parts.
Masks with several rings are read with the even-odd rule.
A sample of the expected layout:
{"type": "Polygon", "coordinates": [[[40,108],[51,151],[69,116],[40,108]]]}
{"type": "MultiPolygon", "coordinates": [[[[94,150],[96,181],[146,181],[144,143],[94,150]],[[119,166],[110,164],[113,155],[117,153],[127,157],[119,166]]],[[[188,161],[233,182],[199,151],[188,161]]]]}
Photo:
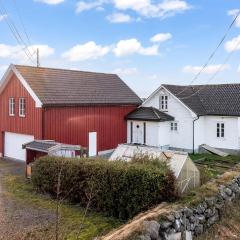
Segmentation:
{"type": "Polygon", "coordinates": [[[139,107],[126,116],[128,120],[165,122],[173,121],[174,117],[153,107],[139,107]]]}

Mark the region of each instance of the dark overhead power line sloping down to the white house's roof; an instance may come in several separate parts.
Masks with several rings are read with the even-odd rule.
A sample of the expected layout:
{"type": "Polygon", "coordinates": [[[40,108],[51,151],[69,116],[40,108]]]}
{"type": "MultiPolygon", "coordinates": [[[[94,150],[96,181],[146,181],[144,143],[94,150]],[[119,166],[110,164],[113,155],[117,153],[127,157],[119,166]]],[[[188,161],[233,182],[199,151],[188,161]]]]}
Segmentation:
{"type": "MultiPolygon", "coordinates": [[[[206,69],[206,67],[209,65],[210,61],[213,59],[213,57],[215,56],[217,50],[220,48],[220,46],[223,44],[223,42],[225,41],[228,33],[230,32],[230,30],[232,29],[232,27],[234,26],[234,24],[236,23],[238,17],[240,16],[240,10],[237,13],[236,17],[234,18],[234,20],[232,21],[232,23],[229,25],[229,27],[227,28],[227,31],[225,32],[225,34],[223,35],[222,39],[220,40],[220,42],[218,43],[217,47],[215,48],[215,50],[212,52],[212,54],[209,56],[207,62],[202,66],[202,68],[199,70],[199,72],[194,76],[194,78],[192,79],[192,81],[190,82],[189,85],[192,85],[197,79],[198,77],[201,75],[201,73],[206,69]]],[[[176,96],[182,94],[183,92],[185,92],[187,89],[187,87],[185,87],[182,91],[180,91],[179,93],[176,94],[176,96]]]]}

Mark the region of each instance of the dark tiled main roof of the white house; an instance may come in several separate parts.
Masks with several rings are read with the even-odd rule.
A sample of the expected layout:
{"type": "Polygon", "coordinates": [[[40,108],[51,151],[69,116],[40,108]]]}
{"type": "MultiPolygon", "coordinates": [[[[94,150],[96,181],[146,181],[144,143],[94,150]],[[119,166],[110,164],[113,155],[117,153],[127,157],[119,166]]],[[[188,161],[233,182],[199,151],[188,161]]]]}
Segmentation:
{"type": "Polygon", "coordinates": [[[163,86],[199,116],[240,116],[240,84],[163,86]]]}

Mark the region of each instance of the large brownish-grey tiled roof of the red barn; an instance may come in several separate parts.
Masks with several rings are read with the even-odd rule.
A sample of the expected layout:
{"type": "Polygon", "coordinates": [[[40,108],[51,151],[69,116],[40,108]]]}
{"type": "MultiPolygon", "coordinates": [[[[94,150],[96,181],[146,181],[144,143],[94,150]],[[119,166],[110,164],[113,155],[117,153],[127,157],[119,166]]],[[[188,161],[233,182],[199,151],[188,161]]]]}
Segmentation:
{"type": "Polygon", "coordinates": [[[116,74],[15,65],[45,106],[140,105],[116,74]]]}

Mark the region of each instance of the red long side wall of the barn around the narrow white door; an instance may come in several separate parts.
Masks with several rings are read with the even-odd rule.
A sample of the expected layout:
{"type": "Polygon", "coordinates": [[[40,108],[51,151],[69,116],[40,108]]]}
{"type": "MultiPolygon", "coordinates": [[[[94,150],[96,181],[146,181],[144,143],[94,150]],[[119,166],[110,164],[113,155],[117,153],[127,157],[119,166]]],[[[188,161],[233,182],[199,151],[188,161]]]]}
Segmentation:
{"type": "Polygon", "coordinates": [[[88,147],[88,133],[97,132],[98,151],[127,141],[124,117],[136,106],[47,108],[44,138],[88,147]]]}

